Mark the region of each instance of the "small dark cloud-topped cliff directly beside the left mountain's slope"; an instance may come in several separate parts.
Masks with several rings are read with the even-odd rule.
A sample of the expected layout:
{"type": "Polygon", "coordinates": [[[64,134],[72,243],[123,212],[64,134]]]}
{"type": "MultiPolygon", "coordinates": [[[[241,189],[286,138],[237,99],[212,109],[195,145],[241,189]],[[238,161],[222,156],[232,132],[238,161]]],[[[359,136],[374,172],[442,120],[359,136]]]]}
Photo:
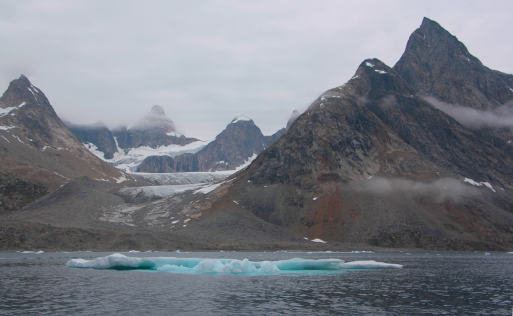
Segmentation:
{"type": "Polygon", "coordinates": [[[91,125],[78,125],[66,123],[80,141],[84,144],[92,143],[98,150],[104,153],[105,159],[112,159],[117,152],[116,141],[109,129],[102,122],[91,125]]]}

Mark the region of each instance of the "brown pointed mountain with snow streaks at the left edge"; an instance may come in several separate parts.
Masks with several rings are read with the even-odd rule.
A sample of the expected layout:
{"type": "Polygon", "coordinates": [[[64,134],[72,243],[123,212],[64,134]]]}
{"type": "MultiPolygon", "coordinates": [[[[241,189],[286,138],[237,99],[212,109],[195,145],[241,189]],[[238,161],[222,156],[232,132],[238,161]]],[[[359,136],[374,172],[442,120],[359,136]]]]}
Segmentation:
{"type": "Polygon", "coordinates": [[[136,181],[87,151],[24,75],[0,98],[0,170],[0,212],[21,209],[80,176],[136,181]]]}

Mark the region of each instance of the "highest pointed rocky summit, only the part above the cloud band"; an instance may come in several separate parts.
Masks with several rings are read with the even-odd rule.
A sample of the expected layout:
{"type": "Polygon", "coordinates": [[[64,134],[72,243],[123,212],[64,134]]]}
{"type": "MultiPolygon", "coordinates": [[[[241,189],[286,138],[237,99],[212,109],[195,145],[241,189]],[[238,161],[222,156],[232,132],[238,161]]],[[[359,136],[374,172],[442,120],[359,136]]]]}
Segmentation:
{"type": "Polygon", "coordinates": [[[393,69],[421,95],[479,110],[513,100],[513,76],[491,70],[438,23],[424,18],[393,69]]]}

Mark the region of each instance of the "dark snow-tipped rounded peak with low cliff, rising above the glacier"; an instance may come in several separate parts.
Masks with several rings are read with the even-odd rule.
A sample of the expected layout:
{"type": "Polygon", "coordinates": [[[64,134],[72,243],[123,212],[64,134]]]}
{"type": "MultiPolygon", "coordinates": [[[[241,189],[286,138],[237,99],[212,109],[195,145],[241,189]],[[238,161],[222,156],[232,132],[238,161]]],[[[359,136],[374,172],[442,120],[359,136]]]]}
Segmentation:
{"type": "Polygon", "coordinates": [[[151,156],[140,165],[138,172],[196,172],[235,170],[258,155],[268,139],[254,122],[246,117],[236,117],[226,129],[195,154],[183,154],[174,158],[151,156]]]}

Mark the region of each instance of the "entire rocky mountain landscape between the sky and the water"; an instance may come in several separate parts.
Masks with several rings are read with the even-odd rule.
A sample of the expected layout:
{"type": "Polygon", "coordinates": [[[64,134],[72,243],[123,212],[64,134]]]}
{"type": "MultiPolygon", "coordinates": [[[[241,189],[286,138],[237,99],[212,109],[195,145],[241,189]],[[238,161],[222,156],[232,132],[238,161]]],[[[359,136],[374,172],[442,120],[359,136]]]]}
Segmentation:
{"type": "Polygon", "coordinates": [[[365,59],[269,137],[241,116],[186,138],[154,107],[70,124],[79,141],[23,76],[0,108],[1,205],[35,201],[0,217],[0,249],[513,250],[513,75],[428,18],[394,67],[365,59]],[[140,186],[83,144],[171,176],[140,186]]]}

